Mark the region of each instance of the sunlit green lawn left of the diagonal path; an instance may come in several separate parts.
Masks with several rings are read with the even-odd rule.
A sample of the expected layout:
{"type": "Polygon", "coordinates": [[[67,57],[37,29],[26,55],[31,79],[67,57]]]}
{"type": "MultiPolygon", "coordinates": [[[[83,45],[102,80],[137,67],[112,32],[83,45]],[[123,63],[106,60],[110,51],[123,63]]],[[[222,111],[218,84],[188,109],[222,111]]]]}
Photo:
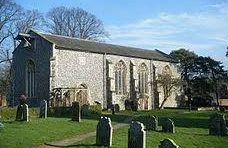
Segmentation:
{"type": "Polygon", "coordinates": [[[5,128],[0,131],[0,147],[34,147],[44,142],[51,142],[94,131],[96,120],[83,119],[77,123],[70,118],[32,118],[30,122],[3,122],[5,128]]]}

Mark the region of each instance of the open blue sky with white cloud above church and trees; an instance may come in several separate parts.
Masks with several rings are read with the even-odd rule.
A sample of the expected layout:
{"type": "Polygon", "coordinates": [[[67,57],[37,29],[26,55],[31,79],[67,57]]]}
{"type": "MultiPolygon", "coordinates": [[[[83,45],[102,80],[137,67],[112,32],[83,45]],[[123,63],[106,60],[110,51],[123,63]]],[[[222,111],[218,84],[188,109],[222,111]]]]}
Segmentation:
{"type": "Polygon", "coordinates": [[[16,0],[46,13],[57,6],[81,7],[104,22],[106,42],[159,49],[186,48],[224,63],[228,41],[226,0],[16,0]]]}

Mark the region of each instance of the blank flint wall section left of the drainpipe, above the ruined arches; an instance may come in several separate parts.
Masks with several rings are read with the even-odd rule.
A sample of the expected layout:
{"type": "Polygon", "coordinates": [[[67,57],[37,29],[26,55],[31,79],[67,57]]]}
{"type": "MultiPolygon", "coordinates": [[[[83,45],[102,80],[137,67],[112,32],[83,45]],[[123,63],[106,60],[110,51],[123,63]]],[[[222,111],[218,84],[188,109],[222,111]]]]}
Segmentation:
{"type": "Polygon", "coordinates": [[[54,49],[54,77],[51,87],[88,87],[88,101],[103,104],[103,55],[77,52],[73,50],[54,49]]]}

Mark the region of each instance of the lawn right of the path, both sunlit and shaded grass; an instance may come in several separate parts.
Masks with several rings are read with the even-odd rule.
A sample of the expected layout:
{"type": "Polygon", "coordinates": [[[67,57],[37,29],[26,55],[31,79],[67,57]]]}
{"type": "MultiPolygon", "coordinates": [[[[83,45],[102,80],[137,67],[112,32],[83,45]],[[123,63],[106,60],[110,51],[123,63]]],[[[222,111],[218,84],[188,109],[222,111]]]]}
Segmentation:
{"type": "MultiPolygon", "coordinates": [[[[176,133],[146,131],[147,147],[157,148],[160,140],[171,138],[183,148],[225,148],[228,146],[228,136],[221,137],[208,135],[208,119],[213,113],[215,113],[215,111],[192,111],[190,113],[185,110],[123,111],[115,116],[111,116],[111,118],[113,120],[118,120],[118,116],[122,119],[127,116],[137,117],[140,115],[156,115],[159,117],[160,123],[165,117],[173,119],[176,125],[176,133]]],[[[124,127],[122,129],[114,130],[112,147],[127,147],[128,128],[129,127],[124,127]]],[[[159,128],[161,129],[161,127],[159,128]]],[[[95,137],[92,137],[71,146],[94,146],[95,141],[95,137]]]]}

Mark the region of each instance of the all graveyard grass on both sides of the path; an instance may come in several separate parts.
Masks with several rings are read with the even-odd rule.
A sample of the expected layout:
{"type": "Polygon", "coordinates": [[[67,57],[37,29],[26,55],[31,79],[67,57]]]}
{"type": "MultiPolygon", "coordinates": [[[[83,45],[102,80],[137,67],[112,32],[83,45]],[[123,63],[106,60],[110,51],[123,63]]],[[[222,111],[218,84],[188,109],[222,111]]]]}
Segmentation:
{"type": "MultiPolygon", "coordinates": [[[[215,111],[192,111],[165,109],[161,111],[121,111],[115,115],[104,112],[103,115],[109,116],[114,122],[126,121],[126,118],[135,118],[144,115],[155,115],[159,117],[159,128],[166,117],[171,118],[175,124],[176,133],[162,133],[155,131],[146,132],[147,147],[158,147],[160,140],[171,138],[180,147],[227,147],[228,137],[211,136],[208,130],[209,116],[215,111]]],[[[228,113],[226,113],[226,119],[228,113]]],[[[73,135],[86,134],[95,131],[97,125],[96,119],[82,119],[80,123],[71,121],[70,118],[50,118],[40,119],[32,117],[30,122],[17,122],[5,120],[5,128],[0,131],[0,147],[35,147],[45,142],[66,139],[73,135]]],[[[115,148],[127,147],[127,134],[129,126],[114,129],[113,146],[115,148]]],[[[79,143],[70,145],[77,146],[94,146],[95,137],[85,139],[79,143]]]]}

